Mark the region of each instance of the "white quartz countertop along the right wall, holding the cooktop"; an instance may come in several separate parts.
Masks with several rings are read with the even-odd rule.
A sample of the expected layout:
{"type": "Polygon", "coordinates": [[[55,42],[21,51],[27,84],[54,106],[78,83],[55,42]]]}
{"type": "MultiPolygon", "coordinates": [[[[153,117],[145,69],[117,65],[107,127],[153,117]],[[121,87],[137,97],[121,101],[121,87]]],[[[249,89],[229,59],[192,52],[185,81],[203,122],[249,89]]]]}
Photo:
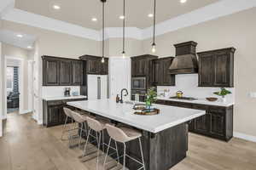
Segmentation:
{"type": "Polygon", "coordinates": [[[226,101],[220,101],[221,99],[218,99],[217,101],[208,101],[207,99],[196,99],[196,100],[169,99],[169,98],[166,98],[166,97],[157,97],[157,99],[177,101],[177,102],[185,102],[185,103],[191,103],[191,104],[217,105],[217,106],[224,106],[224,107],[229,107],[231,105],[235,105],[235,102],[231,101],[230,99],[227,99],[226,101]]]}

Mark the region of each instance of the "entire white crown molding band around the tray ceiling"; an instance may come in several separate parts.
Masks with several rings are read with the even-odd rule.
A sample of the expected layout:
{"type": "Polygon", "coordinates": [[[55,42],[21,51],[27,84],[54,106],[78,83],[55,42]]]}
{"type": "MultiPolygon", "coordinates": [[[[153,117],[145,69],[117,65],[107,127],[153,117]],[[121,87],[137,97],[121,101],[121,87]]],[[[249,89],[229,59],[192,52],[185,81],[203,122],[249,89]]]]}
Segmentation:
{"type": "MultiPolygon", "coordinates": [[[[4,10],[2,14],[3,20],[9,20],[28,26],[34,26],[50,31],[58,31],[76,37],[84,37],[95,41],[102,41],[102,31],[96,31],[82,26],[73,25],[61,20],[54,20],[39,14],[32,14],[26,11],[14,8],[14,0],[9,1],[9,8],[4,10]],[[10,8],[12,7],[12,8],[10,8]]],[[[218,19],[219,17],[229,14],[235,14],[248,8],[256,7],[256,0],[221,0],[212,3],[203,8],[198,8],[188,14],[182,14],[171,20],[160,22],[156,25],[156,36],[160,36],[167,32],[177,31],[188,26],[195,26],[208,20],[218,19]],[[218,9],[218,10],[217,10],[218,9]]],[[[122,27],[107,27],[105,30],[106,39],[122,37],[122,27]]],[[[153,26],[145,29],[137,27],[126,27],[127,38],[144,40],[152,37],[153,26]]]]}

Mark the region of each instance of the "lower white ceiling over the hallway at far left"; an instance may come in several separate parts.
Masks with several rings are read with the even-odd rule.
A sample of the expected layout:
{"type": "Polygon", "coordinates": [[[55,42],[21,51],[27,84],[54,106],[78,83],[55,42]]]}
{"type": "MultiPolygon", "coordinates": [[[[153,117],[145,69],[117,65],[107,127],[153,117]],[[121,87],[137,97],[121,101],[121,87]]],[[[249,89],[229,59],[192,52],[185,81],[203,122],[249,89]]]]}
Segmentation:
{"type": "Polygon", "coordinates": [[[8,43],[20,48],[27,48],[28,46],[33,46],[37,37],[23,34],[21,32],[14,32],[9,30],[0,30],[0,41],[4,43],[8,43]],[[16,35],[21,34],[23,37],[17,37],[16,35]]]}

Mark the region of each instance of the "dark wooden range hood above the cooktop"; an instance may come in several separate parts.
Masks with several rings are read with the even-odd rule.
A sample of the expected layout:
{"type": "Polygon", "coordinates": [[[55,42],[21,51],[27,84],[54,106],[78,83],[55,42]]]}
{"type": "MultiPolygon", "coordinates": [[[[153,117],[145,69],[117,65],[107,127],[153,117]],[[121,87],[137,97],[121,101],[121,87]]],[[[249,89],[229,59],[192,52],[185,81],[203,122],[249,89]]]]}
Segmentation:
{"type": "Polygon", "coordinates": [[[195,55],[197,42],[175,44],[176,57],[169,67],[170,74],[193,74],[198,72],[198,61],[195,55]]]}

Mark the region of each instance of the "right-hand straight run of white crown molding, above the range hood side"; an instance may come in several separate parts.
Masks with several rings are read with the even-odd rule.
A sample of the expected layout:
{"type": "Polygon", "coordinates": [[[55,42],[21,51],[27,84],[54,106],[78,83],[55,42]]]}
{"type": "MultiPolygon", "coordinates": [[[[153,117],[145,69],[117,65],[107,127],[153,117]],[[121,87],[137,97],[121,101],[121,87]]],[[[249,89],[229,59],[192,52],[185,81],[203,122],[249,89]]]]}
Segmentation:
{"type": "MultiPolygon", "coordinates": [[[[167,32],[177,31],[189,26],[218,19],[229,14],[235,14],[248,8],[256,6],[256,0],[222,0],[212,3],[206,7],[196,9],[188,14],[182,14],[171,20],[165,20],[155,27],[155,35],[160,36],[167,32]]],[[[143,39],[148,39],[153,35],[153,26],[143,29],[143,39]]]]}

